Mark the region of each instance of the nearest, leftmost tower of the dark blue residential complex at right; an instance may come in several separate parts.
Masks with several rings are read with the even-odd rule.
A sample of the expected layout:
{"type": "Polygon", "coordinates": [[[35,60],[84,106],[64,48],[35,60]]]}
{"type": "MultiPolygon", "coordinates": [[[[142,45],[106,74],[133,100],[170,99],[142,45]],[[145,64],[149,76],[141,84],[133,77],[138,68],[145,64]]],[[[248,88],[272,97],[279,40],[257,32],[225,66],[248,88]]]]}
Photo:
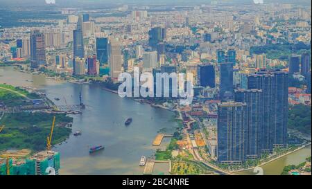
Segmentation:
{"type": "Polygon", "coordinates": [[[247,154],[248,115],[242,102],[218,105],[218,162],[243,163],[247,154]]]}

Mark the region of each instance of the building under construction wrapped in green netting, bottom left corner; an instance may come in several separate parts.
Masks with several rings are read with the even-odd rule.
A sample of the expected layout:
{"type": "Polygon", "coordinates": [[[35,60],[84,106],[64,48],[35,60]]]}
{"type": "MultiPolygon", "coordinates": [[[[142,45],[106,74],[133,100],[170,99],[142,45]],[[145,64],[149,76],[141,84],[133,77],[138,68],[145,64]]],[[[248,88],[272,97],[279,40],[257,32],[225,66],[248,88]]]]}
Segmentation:
{"type": "Polygon", "coordinates": [[[0,154],[0,175],[49,175],[58,174],[60,154],[42,151],[30,156],[27,150],[10,150],[0,154]],[[8,170],[9,169],[9,170],[8,170]]]}

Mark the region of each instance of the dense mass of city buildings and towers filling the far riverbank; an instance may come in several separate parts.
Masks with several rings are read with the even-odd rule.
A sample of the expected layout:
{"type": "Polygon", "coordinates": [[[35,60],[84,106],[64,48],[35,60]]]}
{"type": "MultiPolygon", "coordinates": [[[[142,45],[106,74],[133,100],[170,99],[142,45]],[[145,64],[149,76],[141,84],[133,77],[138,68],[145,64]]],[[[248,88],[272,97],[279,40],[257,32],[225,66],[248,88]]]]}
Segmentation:
{"type": "Polygon", "coordinates": [[[107,75],[113,81],[123,71],[133,73],[134,66],[153,75],[193,73],[196,102],[215,101],[209,104],[214,112],[193,110],[216,130],[208,140],[211,156],[219,163],[243,163],[287,146],[288,101],[311,105],[311,49],[286,59],[254,52],[278,44],[311,48],[311,9],[278,3],[217,6],[134,7],[125,17],[63,11],[67,20],[58,20],[55,28],[27,28],[29,36],[17,33],[19,28],[1,31],[0,39],[18,39],[0,44],[0,58],[10,54],[28,58],[32,69],[107,75]],[[242,13],[245,9],[250,11],[242,13]],[[304,87],[288,88],[290,78],[304,87]]]}

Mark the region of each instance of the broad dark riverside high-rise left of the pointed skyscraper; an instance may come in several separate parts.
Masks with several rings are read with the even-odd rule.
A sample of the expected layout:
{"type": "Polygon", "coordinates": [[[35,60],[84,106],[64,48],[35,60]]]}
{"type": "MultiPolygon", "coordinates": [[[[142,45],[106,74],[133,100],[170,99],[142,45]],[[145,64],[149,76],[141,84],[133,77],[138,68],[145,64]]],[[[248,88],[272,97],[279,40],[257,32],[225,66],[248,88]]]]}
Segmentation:
{"type": "Polygon", "coordinates": [[[31,31],[31,67],[37,68],[46,64],[46,46],[44,44],[44,34],[39,30],[31,31]]]}

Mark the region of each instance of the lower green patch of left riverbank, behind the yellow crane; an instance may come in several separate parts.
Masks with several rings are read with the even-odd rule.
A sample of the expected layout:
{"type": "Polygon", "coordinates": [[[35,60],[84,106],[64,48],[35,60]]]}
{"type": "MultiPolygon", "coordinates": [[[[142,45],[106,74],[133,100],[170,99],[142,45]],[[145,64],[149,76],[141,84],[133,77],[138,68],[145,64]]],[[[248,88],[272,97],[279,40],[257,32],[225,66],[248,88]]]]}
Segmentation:
{"type": "Polygon", "coordinates": [[[20,112],[4,114],[0,125],[5,125],[0,133],[0,151],[10,149],[30,149],[34,152],[44,150],[46,137],[51,132],[55,116],[52,144],[61,143],[68,138],[71,128],[67,127],[73,118],[65,114],[48,114],[42,112],[20,112]]]}

